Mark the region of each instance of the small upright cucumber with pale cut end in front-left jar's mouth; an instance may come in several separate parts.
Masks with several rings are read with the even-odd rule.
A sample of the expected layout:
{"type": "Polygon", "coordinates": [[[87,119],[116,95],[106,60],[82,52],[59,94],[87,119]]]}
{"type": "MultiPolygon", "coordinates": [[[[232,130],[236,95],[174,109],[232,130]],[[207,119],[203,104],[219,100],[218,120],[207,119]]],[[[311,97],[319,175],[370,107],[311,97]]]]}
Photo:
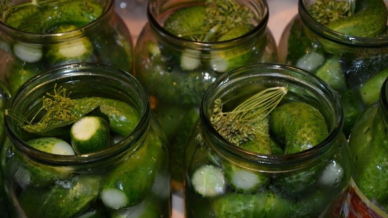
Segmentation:
{"type": "Polygon", "coordinates": [[[71,146],[80,154],[108,148],[111,144],[108,122],[97,116],[84,116],[70,128],[71,146]]]}

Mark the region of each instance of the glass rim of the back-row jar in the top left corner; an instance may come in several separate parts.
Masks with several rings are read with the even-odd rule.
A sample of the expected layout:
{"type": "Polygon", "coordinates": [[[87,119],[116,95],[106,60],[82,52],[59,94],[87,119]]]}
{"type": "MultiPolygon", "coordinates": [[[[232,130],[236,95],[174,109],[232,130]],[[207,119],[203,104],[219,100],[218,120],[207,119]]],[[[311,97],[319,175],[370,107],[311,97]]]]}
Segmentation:
{"type": "MultiPolygon", "coordinates": [[[[101,15],[96,20],[88,23],[87,25],[71,30],[59,33],[34,33],[28,31],[21,31],[14,27],[9,26],[2,19],[0,19],[0,29],[6,32],[12,37],[16,37],[19,41],[25,41],[27,43],[42,43],[46,39],[50,40],[68,40],[70,38],[78,38],[85,34],[85,32],[94,32],[100,28],[102,23],[109,22],[109,18],[114,13],[114,1],[113,0],[100,0],[103,10],[101,15]]],[[[46,42],[45,42],[46,43],[46,42]]]]}

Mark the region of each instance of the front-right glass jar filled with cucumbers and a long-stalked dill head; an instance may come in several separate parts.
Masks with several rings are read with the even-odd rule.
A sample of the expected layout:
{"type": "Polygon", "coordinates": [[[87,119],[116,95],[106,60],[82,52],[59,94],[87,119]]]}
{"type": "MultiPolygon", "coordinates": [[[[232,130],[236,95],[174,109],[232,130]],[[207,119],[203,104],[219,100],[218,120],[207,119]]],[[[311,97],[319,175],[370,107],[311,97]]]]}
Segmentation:
{"type": "Polygon", "coordinates": [[[338,94],[253,64],[210,85],[185,154],[187,218],[338,218],[351,177],[338,94]]]}

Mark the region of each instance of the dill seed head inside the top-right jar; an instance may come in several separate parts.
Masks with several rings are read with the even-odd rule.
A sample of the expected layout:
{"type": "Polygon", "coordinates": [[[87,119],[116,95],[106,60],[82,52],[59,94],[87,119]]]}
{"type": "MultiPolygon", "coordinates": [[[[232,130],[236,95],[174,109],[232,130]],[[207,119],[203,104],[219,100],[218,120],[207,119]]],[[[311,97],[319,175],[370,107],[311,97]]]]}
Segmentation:
{"type": "Polygon", "coordinates": [[[327,25],[335,20],[352,16],[354,1],[317,0],[309,8],[309,14],[319,23],[327,25]]]}

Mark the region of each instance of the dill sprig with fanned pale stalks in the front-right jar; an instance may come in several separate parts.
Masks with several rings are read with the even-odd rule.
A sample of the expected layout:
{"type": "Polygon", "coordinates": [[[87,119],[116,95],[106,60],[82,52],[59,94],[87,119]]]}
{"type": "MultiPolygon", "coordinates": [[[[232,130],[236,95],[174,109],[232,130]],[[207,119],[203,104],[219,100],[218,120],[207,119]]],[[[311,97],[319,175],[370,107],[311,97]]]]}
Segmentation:
{"type": "Polygon", "coordinates": [[[228,112],[222,111],[222,100],[216,99],[210,123],[222,137],[233,144],[253,140],[257,130],[250,123],[267,117],[286,93],[286,87],[268,88],[228,112]]]}

